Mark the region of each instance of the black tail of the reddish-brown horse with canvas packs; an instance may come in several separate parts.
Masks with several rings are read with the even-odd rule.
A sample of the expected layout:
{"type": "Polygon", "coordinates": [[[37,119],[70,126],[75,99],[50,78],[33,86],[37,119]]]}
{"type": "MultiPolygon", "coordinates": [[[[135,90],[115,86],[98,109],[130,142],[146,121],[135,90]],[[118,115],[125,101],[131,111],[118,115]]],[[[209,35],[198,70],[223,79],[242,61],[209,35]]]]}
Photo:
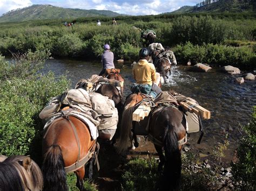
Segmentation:
{"type": "Polygon", "coordinates": [[[69,190],[66,184],[62,150],[59,145],[52,145],[45,153],[42,172],[44,190],[69,190]]]}

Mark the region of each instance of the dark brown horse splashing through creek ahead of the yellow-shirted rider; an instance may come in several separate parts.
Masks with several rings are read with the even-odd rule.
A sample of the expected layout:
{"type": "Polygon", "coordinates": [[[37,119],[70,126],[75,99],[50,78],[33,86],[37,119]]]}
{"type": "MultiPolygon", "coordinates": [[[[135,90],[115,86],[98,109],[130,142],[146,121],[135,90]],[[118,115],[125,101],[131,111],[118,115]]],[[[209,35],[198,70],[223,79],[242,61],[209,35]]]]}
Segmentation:
{"type": "Polygon", "coordinates": [[[160,73],[161,76],[164,77],[164,81],[168,79],[168,72],[171,74],[171,64],[168,59],[165,57],[159,58],[158,55],[160,54],[159,51],[152,51],[151,58],[153,60],[154,66],[156,67],[157,72],[160,73]]]}

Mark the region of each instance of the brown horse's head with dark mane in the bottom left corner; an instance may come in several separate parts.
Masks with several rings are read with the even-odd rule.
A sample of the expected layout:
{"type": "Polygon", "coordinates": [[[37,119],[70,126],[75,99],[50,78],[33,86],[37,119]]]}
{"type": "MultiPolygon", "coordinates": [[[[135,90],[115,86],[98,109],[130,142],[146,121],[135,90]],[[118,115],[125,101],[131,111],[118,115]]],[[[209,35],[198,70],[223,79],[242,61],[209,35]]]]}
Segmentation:
{"type": "Polygon", "coordinates": [[[42,190],[41,169],[29,156],[0,155],[0,190],[42,190]]]}

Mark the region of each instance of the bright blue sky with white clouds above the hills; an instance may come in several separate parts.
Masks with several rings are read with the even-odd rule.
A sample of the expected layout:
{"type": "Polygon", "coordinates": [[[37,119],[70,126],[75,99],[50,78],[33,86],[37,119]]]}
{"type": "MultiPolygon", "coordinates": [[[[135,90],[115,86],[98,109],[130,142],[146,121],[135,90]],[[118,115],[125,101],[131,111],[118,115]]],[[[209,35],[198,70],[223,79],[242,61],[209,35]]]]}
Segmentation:
{"type": "Polygon", "coordinates": [[[110,10],[127,15],[157,15],[203,0],[0,0],[0,16],[10,10],[33,4],[50,4],[62,8],[110,10]]]}

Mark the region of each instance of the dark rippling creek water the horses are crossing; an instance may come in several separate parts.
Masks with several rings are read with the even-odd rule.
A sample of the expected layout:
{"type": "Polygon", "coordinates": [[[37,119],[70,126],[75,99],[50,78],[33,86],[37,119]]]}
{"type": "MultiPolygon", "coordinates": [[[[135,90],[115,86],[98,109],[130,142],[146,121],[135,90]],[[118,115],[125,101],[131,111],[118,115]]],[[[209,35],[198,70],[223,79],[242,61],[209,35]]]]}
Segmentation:
{"type": "MultiPolygon", "coordinates": [[[[127,96],[130,94],[131,84],[134,83],[131,62],[115,65],[121,69],[120,74],[125,79],[127,96]]],[[[183,65],[172,67],[168,83],[164,84],[162,89],[172,89],[194,98],[202,107],[211,111],[211,119],[202,120],[205,134],[201,144],[197,144],[200,133],[191,133],[188,146],[196,153],[211,156],[213,147],[224,143],[228,134],[230,145],[225,151],[224,161],[229,163],[238,146],[241,125],[250,122],[252,107],[256,105],[256,82],[246,81],[239,85],[235,82],[237,76],[220,73],[214,68],[208,73],[188,72],[187,68],[188,66],[183,65]]],[[[100,61],[51,59],[46,61],[43,72],[52,70],[57,76],[66,74],[73,88],[78,80],[99,74],[101,69],[100,61]]],[[[142,143],[141,148],[143,147],[146,147],[147,151],[154,149],[146,142],[142,143]]],[[[143,151],[141,148],[138,148],[138,151],[143,151]]]]}

